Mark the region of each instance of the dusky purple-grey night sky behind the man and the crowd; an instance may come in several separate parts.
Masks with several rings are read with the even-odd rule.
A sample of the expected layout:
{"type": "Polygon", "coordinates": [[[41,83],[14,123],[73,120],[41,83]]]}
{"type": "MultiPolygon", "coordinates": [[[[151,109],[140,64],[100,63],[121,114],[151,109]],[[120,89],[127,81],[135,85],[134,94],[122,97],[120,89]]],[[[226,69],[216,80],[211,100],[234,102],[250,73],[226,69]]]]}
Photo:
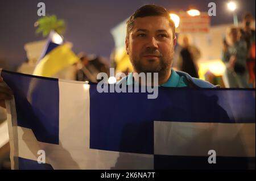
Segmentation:
{"type": "MultiPolygon", "coordinates": [[[[208,3],[215,2],[217,16],[211,18],[211,25],[233,22],[232,13],[226,10],[225,0],[159,0],[159,1],[82,1],[82,0],[23,0],[0,2],[0,66],[6,62],[6,69],[14,70],[26,59],[24,44],[42,40],[41,34],[35,34],[34,23],[38,2],[46,4],[46,14],[57,15],[67,23],[65,40],[73,43],[75,53],[94,53],[109,58],[114,48],[110,29],[128,18],[136,9],[148,3],[162,5],[169,11],[188,10],[193,6],[200,11],[208,11],[208,3]],[[2,62],[1,62],[2,61],[2,62]]],[[[238,18],[244,12],[251,12],[255,17],[255,0],[237,0],[238,18]]]]}

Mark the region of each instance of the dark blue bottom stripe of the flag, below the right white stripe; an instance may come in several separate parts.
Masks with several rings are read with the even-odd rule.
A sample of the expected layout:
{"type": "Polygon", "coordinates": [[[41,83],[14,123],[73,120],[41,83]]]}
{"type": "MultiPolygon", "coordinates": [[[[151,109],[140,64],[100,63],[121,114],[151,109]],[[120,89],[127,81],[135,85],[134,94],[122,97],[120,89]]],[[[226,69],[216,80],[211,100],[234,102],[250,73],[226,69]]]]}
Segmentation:
{"type": "Polygon", "coordinates": [[[154,169],[255,169],[255,157],[217,156],[210,164],[209,156],[154,155],[154,169]]]}

